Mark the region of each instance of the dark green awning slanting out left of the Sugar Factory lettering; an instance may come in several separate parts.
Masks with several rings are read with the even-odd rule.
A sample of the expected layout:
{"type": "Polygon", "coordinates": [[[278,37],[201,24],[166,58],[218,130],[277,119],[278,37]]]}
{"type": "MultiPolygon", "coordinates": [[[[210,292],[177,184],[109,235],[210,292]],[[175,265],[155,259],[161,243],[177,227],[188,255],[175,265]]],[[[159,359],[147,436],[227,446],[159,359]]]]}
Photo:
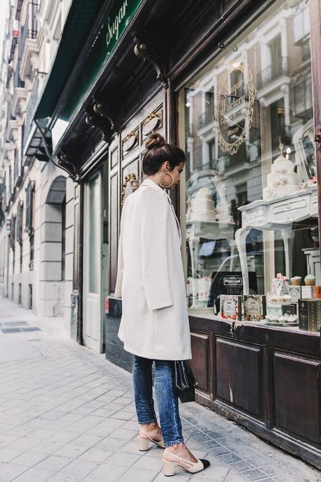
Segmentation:
{"type": "Polygon", "coordinates": [[[57,54],[36,110],[36,119],[50,117],[75,67],[104,0],[73,0],[57,54]]]}

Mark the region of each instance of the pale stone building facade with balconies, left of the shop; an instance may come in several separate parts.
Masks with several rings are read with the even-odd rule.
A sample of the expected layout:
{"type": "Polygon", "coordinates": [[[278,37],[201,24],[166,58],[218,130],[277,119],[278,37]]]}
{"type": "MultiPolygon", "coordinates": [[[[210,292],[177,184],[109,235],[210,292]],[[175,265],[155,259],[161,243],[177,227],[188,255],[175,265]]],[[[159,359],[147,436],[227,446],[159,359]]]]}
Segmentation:
{"type": "Polygon", "coordinates": [[[77,187],[27,148],[70,3],[8,2],[0,85],[0,293],[39,316],[63,316],[66,328],[77,187]]]}

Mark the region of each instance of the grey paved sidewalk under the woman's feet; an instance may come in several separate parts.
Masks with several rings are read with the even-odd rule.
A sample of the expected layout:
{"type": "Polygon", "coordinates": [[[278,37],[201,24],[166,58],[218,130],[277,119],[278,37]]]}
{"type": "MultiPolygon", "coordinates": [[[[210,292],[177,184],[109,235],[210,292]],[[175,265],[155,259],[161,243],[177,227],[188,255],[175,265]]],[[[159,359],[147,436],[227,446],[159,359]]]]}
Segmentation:
{"type": "MultiPolygon", "coordinates": [[[[131,376],[0,298],[0,482],[165,482],[162,450],[137,451],[131,376]]],[[[317,482],[320,472],[196,403],[184,436],[211,467],[173,481],[317,482]]]]}

